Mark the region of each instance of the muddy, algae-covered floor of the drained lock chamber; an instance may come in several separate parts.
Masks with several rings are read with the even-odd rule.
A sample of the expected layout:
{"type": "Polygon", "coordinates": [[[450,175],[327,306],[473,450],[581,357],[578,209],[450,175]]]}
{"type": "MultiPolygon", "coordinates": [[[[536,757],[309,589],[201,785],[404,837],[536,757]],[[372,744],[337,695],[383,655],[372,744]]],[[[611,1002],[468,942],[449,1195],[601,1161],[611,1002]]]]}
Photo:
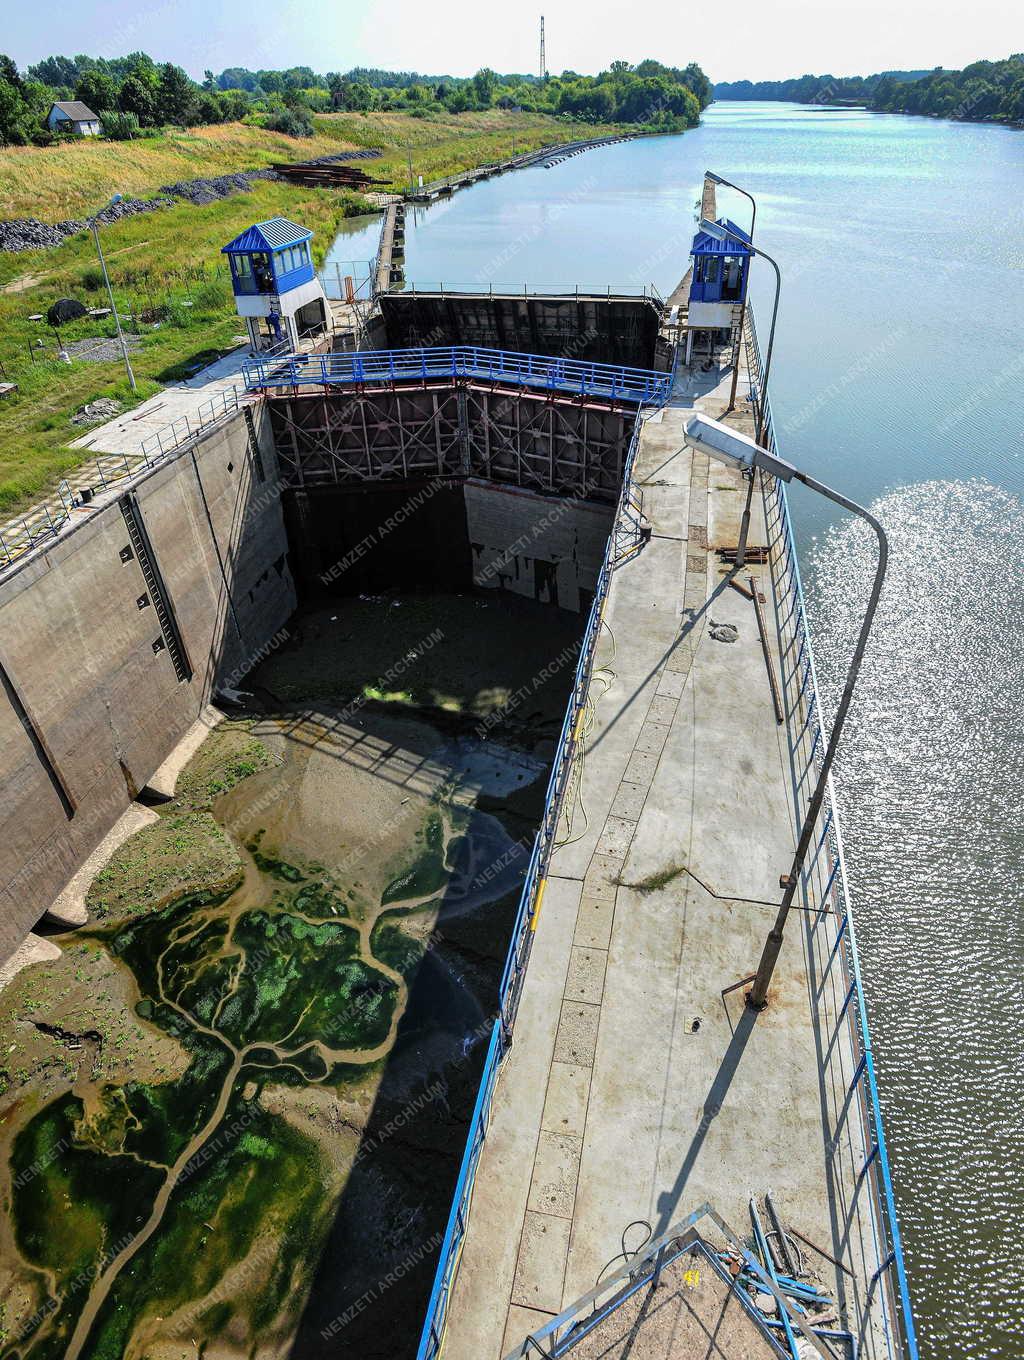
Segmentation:
{"type": "Polygon", "coordinates": [[[579,620],[392,597],[378,656],[371,607],[296,620],[0,993],[4,1355],[415,1348],[579,620]]]}

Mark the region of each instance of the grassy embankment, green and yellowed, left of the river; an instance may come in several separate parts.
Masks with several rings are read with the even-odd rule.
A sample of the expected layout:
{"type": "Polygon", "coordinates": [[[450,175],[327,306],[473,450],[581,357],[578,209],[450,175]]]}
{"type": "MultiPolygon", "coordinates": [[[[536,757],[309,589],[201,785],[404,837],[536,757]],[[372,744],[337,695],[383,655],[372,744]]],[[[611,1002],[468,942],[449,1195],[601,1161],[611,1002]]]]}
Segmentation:
{"type": "MultiPolygon", "coordinates": [[[[243,124],[224,124],[135,143],[84,139],[54,148],[14,147],[0,151],[0,218],[44,220],[82,218],[117,189],[146,197],[162,184],[301,160],[345,148],[381,147],[377,160],[362,162],[381,188],[408,181],[409,150],[415,174],[439,178],[555,141],[615,132],[586,128],[543,114],[505,113],[337,114],[317,120],[317,136],[296,140],[243,124]]],[[[250,193],[207,207],[188,204],[141,214],[103,227],[103,250],[118,306],[132,313],[128,329],[141,336],[132,356],[137,400],[160,385],[186,377],[201,363],[234,347],[241,333],[220,246],[250,222],[275,214],[317,233],[314,254],[322,260],[340,222],[367,211],[360,194],[257,182],[250,193]]],[[[0,363],[18,393],[0,403],[0,517],[27,509],[88,452],[71,449],[83,431],[71,416],[86,403],[110,396],[133,404],[118,362],[71,366],[56,359],[56,340],[45,322],[29,321],[60,296],[106,306],[92,241],[72,237],[52,250],[0,254],[0,363]],[[8,291],[11,288],[18,291],[8,291]],[[34,348],[42,340],[41,348],[34,348]]],[[[113,325],[83,320],[61,330],[64,341],[113,335],[113,325]]]]}

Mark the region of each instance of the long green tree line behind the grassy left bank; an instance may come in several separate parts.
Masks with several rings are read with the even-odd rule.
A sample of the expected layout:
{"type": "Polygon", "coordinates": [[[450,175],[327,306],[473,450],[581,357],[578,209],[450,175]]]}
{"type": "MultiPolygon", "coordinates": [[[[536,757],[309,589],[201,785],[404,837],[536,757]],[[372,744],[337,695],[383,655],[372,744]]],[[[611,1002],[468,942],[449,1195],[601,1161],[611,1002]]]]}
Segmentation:
{"type": "Polygon", "coordinates": [[[583,122],[631,122],[651,129],[692,126],[711,102],[711,82],[695,63],[613,61],[596,76],[564,71],[539,79],[498,75],[484,67],[473,76],[356,67],[318,75],[311,67],[249,71],[230,67],[193,80],[173,63],[144,52],[125,57],[46,57],[24,73],[0,56],[0,144],[48,144],[63,133],[46,128],[57,99],[80,99],[98,114],[106,136],[152,135],[169,124],[230,122],[239,118],[294,136],[313,132],[313,116],[339,110],[401,109],[413,116],[522,109],[583,122]]]}

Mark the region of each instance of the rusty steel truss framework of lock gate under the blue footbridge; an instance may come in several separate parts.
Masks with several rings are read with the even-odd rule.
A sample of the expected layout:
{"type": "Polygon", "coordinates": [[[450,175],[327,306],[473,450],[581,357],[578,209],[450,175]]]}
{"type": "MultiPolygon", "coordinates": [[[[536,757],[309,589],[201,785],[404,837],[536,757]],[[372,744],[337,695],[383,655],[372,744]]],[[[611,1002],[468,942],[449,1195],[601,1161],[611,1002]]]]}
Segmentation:
{"type": "Polygon", "coordinates": [[[481,477],[613,505],[628,403],[466,379],[269,394],[281,477],[309,490],[481,477]]]}

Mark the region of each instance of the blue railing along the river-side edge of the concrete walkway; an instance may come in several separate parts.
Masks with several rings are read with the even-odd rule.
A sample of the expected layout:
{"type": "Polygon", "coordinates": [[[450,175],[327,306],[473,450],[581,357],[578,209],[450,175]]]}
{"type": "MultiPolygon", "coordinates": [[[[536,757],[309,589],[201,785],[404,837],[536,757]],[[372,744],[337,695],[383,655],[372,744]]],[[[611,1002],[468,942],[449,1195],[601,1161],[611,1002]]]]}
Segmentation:
{"type": "MultiPolygon", "coordinates": [[[[763,364],[753,317],[749,313],[747,354],[748,371],[752,374],[751,397],[756,401],[762,394],[763,364]]],[[[762,441],[768,449],[775,449],[775,431],[767,398],[763,405],[762,441]]],[[[763,479],[763,491],[794,785],[794,816],[800,821],[817,778],[825,733],[821,726],[817,672],[804,612],[804,588],[786,488],[782,481],[770,477],[763,479]]],[[[831,778],[821,809],[816,850],[804,868],[802,880],[804,903],[810,908],[806,914],[805,944],[815,1002],[825,1034],[831,1028],[831,1036],[827,1038],[823,1051],[823,1087],[834,1118],[831,1157],[839,1156],[840,1136],[855,1114],[859,1114],[861,1121],[857,1146],[862,1160],[859,1166],[847,1168],[854,1189],[849,1206],[844,1206],[846,1238],[851,1235],[854,1217],[859,1217],[864,1240],[870,1240],[877,1268],[870,1274],[866,1295],[858,1300],[858,1311],[862,1318],[868,1318],[878,1302],[880,1292],[884,1291],[881,1325],[885,1352],[889,1356],[917,1360],[917,1333],[831,778]],[[849,1032],[849,1044],[839,1042],[840,1032],[849,1032]],[[859,1195],[864,1193],[870,1195],[870,1212],[865,1213],[861,1212],[859,1204],[859,1195]]],[[[850,1153],[850,1148],[847,1140],[846,1155],[850,1153]]],[[[834,1176],[834,1183],[840,1180],[840,1176],[834,1176]]]]}

